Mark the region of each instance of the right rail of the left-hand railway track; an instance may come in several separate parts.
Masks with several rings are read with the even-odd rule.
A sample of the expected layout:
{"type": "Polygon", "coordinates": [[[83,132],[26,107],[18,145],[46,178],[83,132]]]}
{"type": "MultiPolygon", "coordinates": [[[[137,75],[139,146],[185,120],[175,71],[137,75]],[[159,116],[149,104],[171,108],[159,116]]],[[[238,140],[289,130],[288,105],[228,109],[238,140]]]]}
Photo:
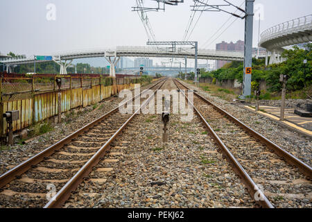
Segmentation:
{"type": "MultiPolygon", "coordinates": [[[[157,89],[160,89],[162,85],[166,82],[166,79],[164,82],[162,82],[161,85],[157,89]]],[[[107,142],[89,159],[83,167],[80,168],[80,170],[58,191],[53,198],[49,201],[49,203],[46,203],[44,208],[58,208],[62,207],[62,204],[69,198],[71,195],[71,191],[75,190],[78,185],[80,185],[80,182],[86,178],[89,173],[92,171],[92,168],[98,164],[98,162],[101,160],[101,158],[107,153],[107,151],[110,151],[110,144],[114,141],[114,139],[122,132],[122,130],[125,128],[125,126],[128,125],[128,123],[137,115],[139,110],[141,108],[144,108],[148,103],[150,102],[151,99],[155,97],[155,93],[157,92],[157,89],[155,90],[153,96],[150,96],[146,101],[144,102],[143,105],[140,106],[140,108],[135,111],[132,116],[123,123],[121,128],[119,128],[110,139],[107,140],[107,142]]]]}

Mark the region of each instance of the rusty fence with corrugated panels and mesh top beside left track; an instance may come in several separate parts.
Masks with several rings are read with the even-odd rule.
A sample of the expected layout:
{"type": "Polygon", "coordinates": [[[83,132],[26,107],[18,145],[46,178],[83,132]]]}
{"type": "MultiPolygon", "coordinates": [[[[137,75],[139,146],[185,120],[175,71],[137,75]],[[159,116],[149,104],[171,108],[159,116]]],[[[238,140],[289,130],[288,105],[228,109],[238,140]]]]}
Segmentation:
{"type": "Polygon", "coordinates": [[[122,89],[133,89],[136,78],[31,76],[29,78],[1,78],[0,114],[1,137],[7,133],[3,113],[19,110],[19,120],[13,122],[13,131],[58,114],[58,92],[61,92],[62,112],[86,107],[106,99],[122,89]],[[55,79],[60,78],[58,87],[55,79]]]}

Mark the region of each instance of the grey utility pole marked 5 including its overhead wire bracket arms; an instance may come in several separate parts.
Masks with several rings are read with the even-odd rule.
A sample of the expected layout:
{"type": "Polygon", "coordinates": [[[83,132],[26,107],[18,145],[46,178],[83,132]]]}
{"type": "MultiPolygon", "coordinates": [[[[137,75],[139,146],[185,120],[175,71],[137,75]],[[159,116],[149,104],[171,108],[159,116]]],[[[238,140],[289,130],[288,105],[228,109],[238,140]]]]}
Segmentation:
{"type": "Polygon", "coordinates": [[[229,1],[225,1],[227,4],[218,4],[211,5],[206,3],[204,0],[194,0],[198,2],[198,5],[191,6],[193,7],[192,11],[200,12],[226,12],[227,14],[233,15],[241,19],[245,19],[245,47],[244,47],[244,71],[243,71],[243,95],[241,99],[245,99],[246,96],[251,95],[251,80],[252,80],[252,31],[253,31],[253,19],[254,19],[254,0],[245,0],[245,10],[234,6],[229,1]],[[233,6],[237,10],[240,10],[245,15],[236,15],[232,12],[223,10],[223,7],[233,6]]]}

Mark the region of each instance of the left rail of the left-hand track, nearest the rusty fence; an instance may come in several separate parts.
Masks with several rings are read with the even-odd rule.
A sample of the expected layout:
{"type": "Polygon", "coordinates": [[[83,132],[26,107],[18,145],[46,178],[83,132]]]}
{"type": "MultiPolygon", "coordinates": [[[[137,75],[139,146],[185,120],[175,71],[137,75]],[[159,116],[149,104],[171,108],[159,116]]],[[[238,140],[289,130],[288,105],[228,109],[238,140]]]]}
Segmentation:
{"type": "MultiPolygon", "coordinates": [[[[155,87],[159,83],[162,83],[164,80],[166,80],[166,78],[159,80],[157,83],[152,85],[150,88],[155,87]]],[[[144,92],[146,92],[146,90],[148,90],[148,89],[145,89],[143,92],[141,92],[137,96],[144,94],[144,92]]],[[[135,96],[135,98],[137,98],[137,96],[135,96]]],[[[133,98],[133,99],[135,99],[135,98],[133,98]]],[[[59,142],[49,146],[48,148],[45,148],[43,151],[41,151],[40,153],[37,153],[36,155],[29,158],[28,160],[21,162],[16,167],[13,167],[12,169],[7,171],[6,173],[3,173],[0,176],[0,188],[7,185],[9,182],[14,180],[17,176],[20,176],[21,174],[28,171],[28,169],[31,169],[31,167],[33,167],[34,165],[38,164],[39,162],[42,162],[42,160],[44,160],[44,158],[49,157],[50,155],[55,153],[55,151],[58,151],[60,148],[62,148],[65,144],[69,144],[69,142],[71,142],[73,139],[76,139],[79,135],[85,133],[87,130],[89,130],[89,128],[92,128],[97,123],[103,121],[103,119],[105,119],[106,117],[108,117],[111,114],[113,114],[114,112],[118,111],[119,107],[125,105],[129,101],[132,101],[132,99],[126,101],[125,103],[122,103],[121,105],[114,108],[110,112],[107,112],[106,114],[104,114],[102,117],[99,117],[98,119],[92,121],[91,123],[88,123],[86,126],[83,126],[83,128],[76,130],[74,133],[71,133],[71,135],[68,135],[67,137],[61,139],[59,142]]]]}

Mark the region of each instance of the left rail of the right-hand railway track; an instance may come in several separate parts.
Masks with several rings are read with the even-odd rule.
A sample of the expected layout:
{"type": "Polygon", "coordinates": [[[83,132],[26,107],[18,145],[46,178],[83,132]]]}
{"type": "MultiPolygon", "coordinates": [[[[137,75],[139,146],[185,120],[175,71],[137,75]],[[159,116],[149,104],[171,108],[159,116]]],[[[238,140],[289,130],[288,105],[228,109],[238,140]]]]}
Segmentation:
{"type": "MultiPolygon", "coordinates": [[[[180,87],[177,85],[177,83],[180,83],[180,82],[177,81],[177,83],[176,83],[175,81],[177,81],[177,80],[173,80],[173,82],[175,83],[177,88],[180,89],[180,87]]],[[[184,85],[182,85],[182,86],[184,86],[184,85]]],[[[187,87],[185,87],[185,88],[187,88],[187,87]]],[[[187,89],[189,89],[189,88],[187,88],[187,89]]],[[[258,203],[262,207],[264,207],[264,208],[274,208],[272,203],[270,203],[270,200],[268,200],[268,198],[263,194],[261,189],[259,189],[257,184],[248,175],[248,173],[241,166],[239,161],[236,160],[236,158],[231,153],[231,151],[229,151],[229,148],[227,148],[227,146],[222,142],[220,137],[218,137],[218,135],[214,132],[214,130],[209,125],[209,123],[206,121],[205,117],[203,117],[202,114],[200,113],[200,111],[195,107],[195,105],[193,103],[191,103],[191,101],[189,101],[188,96],[186,96],[182,90],[180,90],[180,92],[182,92],[182,94],[185,96],[185,98],[187,99],[189,104],[195,110],[196,114],[198,114],[198,117],[200,117],[202,122],[205,124],[206,128],[209,130],[209,133],[210,133],[211,137],[214,138],[214,141],[216,142],[216,144],[218,144],[218,146],[221,148],[221,151],[223,151],[223,153],[225,153],[225,157],[227,157],[227,160],[229,161],[230,164],[232,164],[232,167],[233,167],[234,171],[236,171],[236,173],[238,173],[238,175],[242,179],[243,183],[245,184],[245,186],[248,189],[248,192],[249,192],[250,196],[256,201],[256,203],[258,203]],[[257,199],[256,199],[256,196],[257,196],[257,199]]]]}

